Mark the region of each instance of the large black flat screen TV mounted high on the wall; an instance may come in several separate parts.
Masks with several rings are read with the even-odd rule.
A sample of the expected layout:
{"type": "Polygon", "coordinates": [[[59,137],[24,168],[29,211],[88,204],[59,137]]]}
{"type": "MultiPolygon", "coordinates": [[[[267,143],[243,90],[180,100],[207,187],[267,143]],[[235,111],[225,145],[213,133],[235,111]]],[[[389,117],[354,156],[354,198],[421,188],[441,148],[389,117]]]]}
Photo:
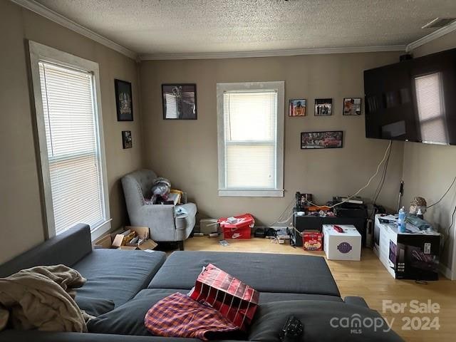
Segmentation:
{"type": "Polygon", "coordinates": [[[456,145],[456,48],[364,71],[366,137],[456,145]]]}

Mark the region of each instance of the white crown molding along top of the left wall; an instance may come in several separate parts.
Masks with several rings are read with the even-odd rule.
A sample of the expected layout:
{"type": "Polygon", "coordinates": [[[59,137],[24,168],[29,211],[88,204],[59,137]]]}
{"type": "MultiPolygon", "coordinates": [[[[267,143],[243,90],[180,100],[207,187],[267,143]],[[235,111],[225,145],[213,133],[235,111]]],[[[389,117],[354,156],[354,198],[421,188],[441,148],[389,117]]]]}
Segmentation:
{"type": "Polygon", "coordinates": [[[121,46],[118,43],[115,43],[114,41],[110,41],[108,38],[105,38],[100,34],[95,33],[89,30],[88,28],[66,18],[65,16],[62,16],[61,14],[58,14],[57,12],[52,11],[51,9],[48,9],[46,6],[43,6],[42,4],[39,4],[34,0],[11,1],[14,2],[14,4],[24,7],[24,9],[28,9],[32,12],[35,12],[36,14],[44,16],[46,19],[49,19],[57,24],[60,24],[61,26],[65,26],[66,28],[69,28],[70,30],[75,31],[83,36],[86,36],[87,38],[90,38],[93,41],[96,41],[104,46],[107,46],[108,48],[112,48],[113,50],[118,51],[127,57],[133,58],[134,60],[138,60],[137,53],[121,46]]]}

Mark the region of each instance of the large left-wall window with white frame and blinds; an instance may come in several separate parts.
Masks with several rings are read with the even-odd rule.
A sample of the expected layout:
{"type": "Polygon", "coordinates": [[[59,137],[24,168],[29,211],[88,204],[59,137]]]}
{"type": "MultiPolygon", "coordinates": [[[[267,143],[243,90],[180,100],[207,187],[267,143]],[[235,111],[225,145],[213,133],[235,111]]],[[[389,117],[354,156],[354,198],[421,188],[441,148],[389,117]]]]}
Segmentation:
{"type": "MultiPolygon", "coordinates": [[[[49,236],[109,227],[98,64],[30,42],[49,236]]],[[[100,232],[103,230],[103,232],[100,232]]]]}

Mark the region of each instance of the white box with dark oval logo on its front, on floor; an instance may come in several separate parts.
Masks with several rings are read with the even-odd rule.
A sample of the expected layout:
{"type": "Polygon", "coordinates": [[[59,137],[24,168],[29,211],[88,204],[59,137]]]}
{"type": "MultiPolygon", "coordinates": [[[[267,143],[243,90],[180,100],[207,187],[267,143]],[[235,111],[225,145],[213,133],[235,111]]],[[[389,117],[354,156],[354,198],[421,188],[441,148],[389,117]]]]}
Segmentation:
{"type": "Polygon", "coordinates": [[[361,260],[361,234],[352,224],[337,224],[343,229],[339,233],[333,224],[323,224],[323,249],[329,260],[361,260]]]}

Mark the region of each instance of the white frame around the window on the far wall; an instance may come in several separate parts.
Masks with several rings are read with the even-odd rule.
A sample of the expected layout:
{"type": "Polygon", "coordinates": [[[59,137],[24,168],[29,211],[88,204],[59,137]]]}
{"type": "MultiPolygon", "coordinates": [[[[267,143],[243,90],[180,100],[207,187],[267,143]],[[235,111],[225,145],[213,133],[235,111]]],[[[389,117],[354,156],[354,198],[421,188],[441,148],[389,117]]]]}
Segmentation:
{"type": "Polygon", "coordinates": [[[217,83],[217,140],[220,197],[284,197],[284,93],[285,82],[217,83]],[[224,93],[230,90],[276,90],[276,187],[275,189],[227,189],[224,145],[224,93]]]}

